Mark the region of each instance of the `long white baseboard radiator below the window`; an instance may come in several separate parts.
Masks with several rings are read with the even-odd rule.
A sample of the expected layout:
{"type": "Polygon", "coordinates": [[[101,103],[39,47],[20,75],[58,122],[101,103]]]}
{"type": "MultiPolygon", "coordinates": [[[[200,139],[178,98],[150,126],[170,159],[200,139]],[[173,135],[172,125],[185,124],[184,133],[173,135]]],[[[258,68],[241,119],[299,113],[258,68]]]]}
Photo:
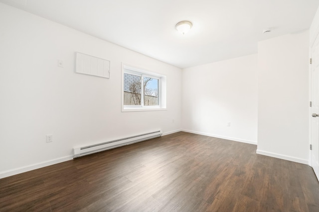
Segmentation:
{"type": "Polygon", "coordinates": [[[137,136],[131,136],[128,138],[118,139],[114,141],[106,141],[106,142],[97,143],[93,145],[76,147],[76,148],[73,148],[73,158],[81,157],[88,154],[93,154],[96,152],[108,150],[111,148],[116,148],[119,146],[128,145],[131,143],[154,139],[154,138],[160,137],[161,135],[162,135],[162,131],[159,130],[155,132],[145,133],[145,134],[141,134],[137,136]]]}

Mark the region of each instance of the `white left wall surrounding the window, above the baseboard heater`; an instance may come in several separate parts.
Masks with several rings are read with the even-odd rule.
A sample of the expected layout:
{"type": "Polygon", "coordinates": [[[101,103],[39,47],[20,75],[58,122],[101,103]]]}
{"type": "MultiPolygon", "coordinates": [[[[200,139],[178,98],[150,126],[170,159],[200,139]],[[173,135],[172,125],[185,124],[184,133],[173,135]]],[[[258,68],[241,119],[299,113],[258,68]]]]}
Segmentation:
{"type": "Polygon", "coordinates": [[[178,68],[0,3],[0,178],[71,159],[75,145],[179,131],[180,78],[178,68]],[[75,52],[110,60],[111,78],[75,73],[75,52]],[[166,75],[167,110],[121,112],[122,62],[166,75]]]}

